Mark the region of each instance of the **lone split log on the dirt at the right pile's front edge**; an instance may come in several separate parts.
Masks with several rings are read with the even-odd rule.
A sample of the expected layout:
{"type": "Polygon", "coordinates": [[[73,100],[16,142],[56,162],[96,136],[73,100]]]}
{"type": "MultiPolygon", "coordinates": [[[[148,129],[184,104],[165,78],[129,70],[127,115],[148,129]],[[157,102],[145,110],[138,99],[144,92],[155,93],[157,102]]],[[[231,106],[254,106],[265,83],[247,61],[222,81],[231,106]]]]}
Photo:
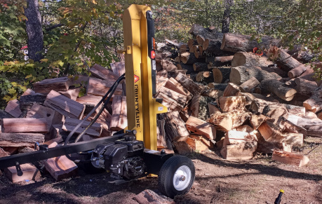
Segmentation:
{"type": "Polygon", "coordinates": [[[271,157],[273,161],[279,161],[281,163],[286,163],[290,165],[295,165],[302,167],[309,163],[309,158],[302,154],[291,153],[287,151],[274,150],[273,156],[271,157]]]}

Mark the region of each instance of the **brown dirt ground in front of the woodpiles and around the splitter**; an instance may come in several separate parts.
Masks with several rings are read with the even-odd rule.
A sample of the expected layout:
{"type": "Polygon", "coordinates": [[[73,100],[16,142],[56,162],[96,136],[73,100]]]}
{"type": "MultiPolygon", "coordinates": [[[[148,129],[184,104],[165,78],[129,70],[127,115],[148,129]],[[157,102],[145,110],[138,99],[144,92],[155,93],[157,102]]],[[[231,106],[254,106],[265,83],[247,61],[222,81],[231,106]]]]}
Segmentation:
{"type": "MultiPolygon", "coordinates": [[[[322,203],[322,138],[308,137],[302,149],[310,161],[302,168],[257,156],[251,161],[225,161],[219,149],[189,155],[196,167],[192,190],[176,196],[176,203],[322,203]]],[[[157,191],[157,178],[115,184],[107,173],[55,182],[43,173],[39,182],[12,184],[0,176],[0,203],[137,203],[133,197],[145,189],[157,191]]]]}

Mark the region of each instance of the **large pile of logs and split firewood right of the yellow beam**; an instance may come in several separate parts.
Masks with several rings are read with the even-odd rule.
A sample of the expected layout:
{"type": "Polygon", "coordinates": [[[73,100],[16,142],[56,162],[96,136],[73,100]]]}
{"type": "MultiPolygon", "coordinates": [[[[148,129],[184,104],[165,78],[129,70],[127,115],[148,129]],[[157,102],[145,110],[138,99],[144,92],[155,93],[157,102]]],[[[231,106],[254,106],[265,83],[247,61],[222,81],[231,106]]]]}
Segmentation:
{"type": "Polygon", "coordinates": [[[170,109],[158,120],[159,146],[187,154],[215,144],[226,159],[273,153],[274,160],[305,165],[308,158],[292,147],[322,136],[322,86],[311,65],[270,36],[199,25],[189,33],[187,44],[167,41],[176,57],[157,55],[156,96],[170,109]]]}

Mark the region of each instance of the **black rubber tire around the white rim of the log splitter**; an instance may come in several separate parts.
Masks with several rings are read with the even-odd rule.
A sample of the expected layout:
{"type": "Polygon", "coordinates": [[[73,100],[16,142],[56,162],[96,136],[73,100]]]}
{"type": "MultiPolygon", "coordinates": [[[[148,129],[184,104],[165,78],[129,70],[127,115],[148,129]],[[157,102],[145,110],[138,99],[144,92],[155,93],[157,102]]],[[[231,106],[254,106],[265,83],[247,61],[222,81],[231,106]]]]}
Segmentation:
{"type": "Polygon", "coordinates": [[[186,156],[170,157],[162,165],[159,172],[159,191],[161,191],[163,195],[168,196],[169,198],[174,198],[176,195],[188,193],[192,187],[192,184],[194,184],[194,175],[194,163],[192,163],[190,158],[187,158],[186,156]],[[177,189],[175,189],[175,187],[173,186],[173,177],[177,169],[182,165],[186,165],[190,169],[192,178],[189,182],[189,185],[185,189],[183,189],[182,191],[177,191],[177,189]]]}

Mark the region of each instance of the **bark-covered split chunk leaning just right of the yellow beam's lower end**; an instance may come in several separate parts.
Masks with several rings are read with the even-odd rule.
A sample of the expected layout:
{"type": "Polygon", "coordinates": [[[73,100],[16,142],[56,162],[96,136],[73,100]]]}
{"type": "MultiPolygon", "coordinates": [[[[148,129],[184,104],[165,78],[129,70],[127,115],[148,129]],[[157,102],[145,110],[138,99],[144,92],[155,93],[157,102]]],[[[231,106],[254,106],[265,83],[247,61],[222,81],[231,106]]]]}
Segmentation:
{"type": "Polygon", "coordinates": [[[164,119],[166,121],[164,128],[166,130],[166,137],[170,140],[173,140],[173,138],[177,136],[185,137],[189,135],[189,132],[185,126],[185,122],[182,121],[178,111],[159,114],[159,116],[161,117],[161,119],[164,119]]]}

